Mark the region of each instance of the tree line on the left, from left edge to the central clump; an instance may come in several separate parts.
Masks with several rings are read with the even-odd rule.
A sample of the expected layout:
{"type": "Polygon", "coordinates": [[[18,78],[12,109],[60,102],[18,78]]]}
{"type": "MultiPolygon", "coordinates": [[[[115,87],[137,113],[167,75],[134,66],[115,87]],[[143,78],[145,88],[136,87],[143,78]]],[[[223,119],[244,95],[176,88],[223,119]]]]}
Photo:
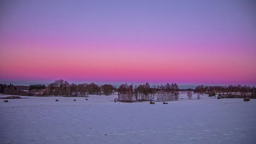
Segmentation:
{"type": "Polygon", "coordinates": [[[64,97],[88,97],[88,94],[112,94],[117,91],[112,85],[106,84],[98,86],[95,83],[81,83],[76,85],[69,84],[64,80],[56,80],[48,86],[38,84],[30,85],[27,91],[17,91],[14,85],[6,85],[0,83],[0,93],[24,95],[24,96],[64,96],[64,97]]]}

